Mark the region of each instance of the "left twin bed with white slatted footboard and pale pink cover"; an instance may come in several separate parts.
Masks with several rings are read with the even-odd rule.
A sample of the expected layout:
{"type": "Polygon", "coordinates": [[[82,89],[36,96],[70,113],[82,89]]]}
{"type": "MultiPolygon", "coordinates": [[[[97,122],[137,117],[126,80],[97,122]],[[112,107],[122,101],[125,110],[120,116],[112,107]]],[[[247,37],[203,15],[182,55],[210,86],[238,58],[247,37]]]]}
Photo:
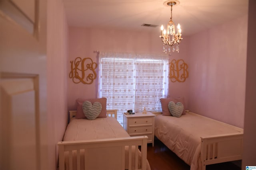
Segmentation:
{"type": "Polygon", "coordinates": [[[150,170],[148,137],[130,137],[116,120],[116,110],[94,120],[75,114],[70,111],[64,139],[58,142],[59,170],[150,170]]]}

